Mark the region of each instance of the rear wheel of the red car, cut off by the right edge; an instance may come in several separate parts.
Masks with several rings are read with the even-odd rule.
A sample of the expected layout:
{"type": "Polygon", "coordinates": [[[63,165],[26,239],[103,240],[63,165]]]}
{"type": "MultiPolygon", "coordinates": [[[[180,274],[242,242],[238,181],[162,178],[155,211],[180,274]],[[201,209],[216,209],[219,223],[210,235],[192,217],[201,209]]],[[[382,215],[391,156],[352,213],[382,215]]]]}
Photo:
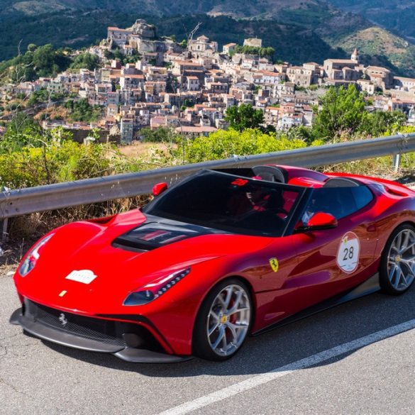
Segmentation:
{"type": "Polygon", "coordinates": [[[402,223],[389,236],[384,245],[380,259],[379,280],[382,291],[386,294],[404,294],[414,282],[414,260],[409,260],[415,254],[415,226],[410,223],[402,223]],[[403,250],[406,236],[409,236],[411,248],[403,250]],[[401,238],[399,240],[399,238],[401,238]],[[401,245],[401,250],[397,246],[401,245]],[[412,271],[411,271],[412,270],[412,271]]]}

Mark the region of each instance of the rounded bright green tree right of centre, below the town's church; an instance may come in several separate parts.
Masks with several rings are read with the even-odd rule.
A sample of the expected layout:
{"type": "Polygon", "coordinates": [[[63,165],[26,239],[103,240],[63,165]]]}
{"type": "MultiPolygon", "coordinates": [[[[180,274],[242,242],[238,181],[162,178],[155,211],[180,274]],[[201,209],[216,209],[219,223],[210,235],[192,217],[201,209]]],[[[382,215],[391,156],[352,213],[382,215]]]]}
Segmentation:
{"type": "Polygon", "coordinates": [[[342,131],[359,131],[367,116],[364,96],[353,84],[348,88],[328,89],[321,99],[321,109],[314,108],[314,112],[314,135],[323,140],[334,138],[342,131]]]}

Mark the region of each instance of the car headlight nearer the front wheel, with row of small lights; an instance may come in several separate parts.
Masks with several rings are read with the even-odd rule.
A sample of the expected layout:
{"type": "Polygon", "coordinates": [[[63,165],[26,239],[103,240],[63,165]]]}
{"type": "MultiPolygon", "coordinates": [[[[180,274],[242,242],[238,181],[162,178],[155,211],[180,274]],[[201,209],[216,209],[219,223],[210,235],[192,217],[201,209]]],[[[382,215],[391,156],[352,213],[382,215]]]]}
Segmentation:
{"type": "Polygon", "coordinates": [[[140,288],[140,291],[128,294],[127,298],[123,302],[123,305],[142,306],[143,304],[148,304],[167,292],[170,288],[174,287],[175,284],[186,277],[189,272],[190,267],[185,270],[173,272],[172,274],[167,275],[167,277],[162,277],[155,282],[147,284],[140,288]]]}

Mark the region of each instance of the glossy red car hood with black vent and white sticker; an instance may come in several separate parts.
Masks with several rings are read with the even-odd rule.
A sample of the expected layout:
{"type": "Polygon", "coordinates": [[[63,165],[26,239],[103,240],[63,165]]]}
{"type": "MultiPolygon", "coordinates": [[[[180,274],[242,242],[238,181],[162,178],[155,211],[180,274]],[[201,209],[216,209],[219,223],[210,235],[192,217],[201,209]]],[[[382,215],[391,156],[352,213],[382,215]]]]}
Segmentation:
{"type": "MultiPolygon", "coordinates": [[[[131,231],[153,232],[154,218],[130,211],[113,218],[81,221],[59,228],[45,244],[35,268],[26,277],[16,272],[18,291],[33,301],[85,313],[111,313],[128,293],[157,278],[221,257],[239,256],[265,248],[270,238],[218,233],[209,228],[158,220],[159,231],[176,231],[167,243],[149,250],[120,244],[131,231]],[[163,229],[164,228],[164,229],[163,229]],[[180,229],[185,236],[180,238],[180,229]],[[118,243],[116,242],[118,240],[118,243]],[[88,270],[89,283],[68,279],[74,271],[88,270]],[[96,309],[99,304],[99,311],[96,309]]],[[[198,278],[192,269],[189,277],[198,278]]],[[[187,277],[188,278],[188,277],[187,277]]]]}

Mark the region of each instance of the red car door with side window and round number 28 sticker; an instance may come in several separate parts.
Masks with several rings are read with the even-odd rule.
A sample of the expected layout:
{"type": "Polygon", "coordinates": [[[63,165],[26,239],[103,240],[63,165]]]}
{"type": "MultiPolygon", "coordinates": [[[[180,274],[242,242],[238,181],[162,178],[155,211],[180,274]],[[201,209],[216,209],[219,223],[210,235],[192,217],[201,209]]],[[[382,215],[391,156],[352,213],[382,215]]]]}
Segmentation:
{"type": "Polygon", "coordinates": [[[314,189],[303,221],[317,212],[338,219],[334,228],[298,231],[287,236],[297,265],[275,291],[272,311],[278,319],[365,281],[376,272],[377,230],[372,205],[375,197],[365,186],[314,189]]]}

